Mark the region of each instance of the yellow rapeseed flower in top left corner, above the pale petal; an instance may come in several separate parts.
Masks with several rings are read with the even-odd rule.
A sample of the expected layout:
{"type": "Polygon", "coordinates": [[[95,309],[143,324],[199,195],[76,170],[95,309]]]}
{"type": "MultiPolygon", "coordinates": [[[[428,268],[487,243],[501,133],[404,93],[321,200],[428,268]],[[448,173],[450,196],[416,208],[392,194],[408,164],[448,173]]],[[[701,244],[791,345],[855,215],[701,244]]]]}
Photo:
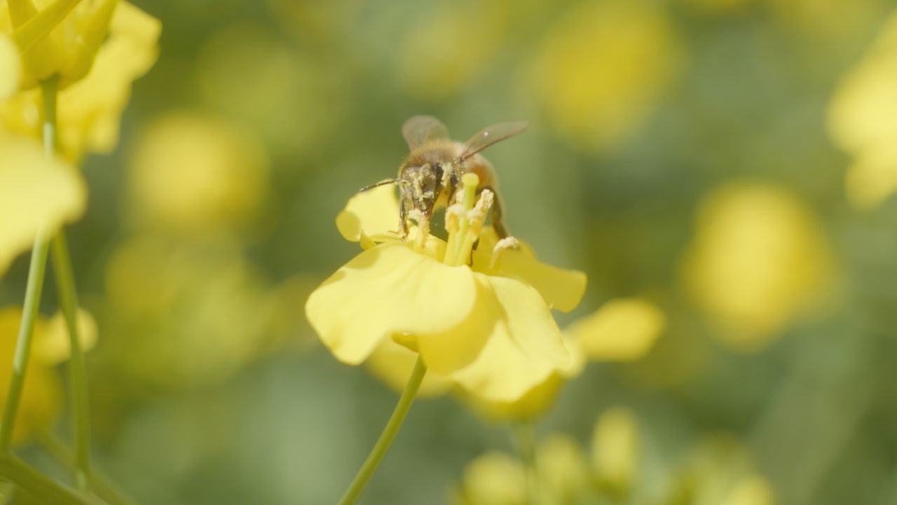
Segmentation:
{"type": "MultiPolygon", "coordinates": [[[[13,4],[30,0],[0,8],[0,31],[10,33],[21,24],[13,22],[18,19],[13,11],[19,12],[13,4]]],[[[33,6],[22,8],[35,15],[33,6]]],[[[60,153],[73,163],[88,152],[109,153],[118,144],[131,82],[156,60],[160,31],[157,19],[127,2],[82,0],[46,39],[22,54],[22,91],[0,104],[0,129],[38,138],[41,97],[30,88],[56,75],[60,153]]]]}

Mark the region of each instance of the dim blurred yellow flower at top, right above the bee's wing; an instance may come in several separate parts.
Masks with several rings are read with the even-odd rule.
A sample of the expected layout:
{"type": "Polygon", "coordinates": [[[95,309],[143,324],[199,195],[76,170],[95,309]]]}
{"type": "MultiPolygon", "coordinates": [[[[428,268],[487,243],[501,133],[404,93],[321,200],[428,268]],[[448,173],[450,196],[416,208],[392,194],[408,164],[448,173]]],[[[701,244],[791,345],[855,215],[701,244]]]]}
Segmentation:
{"type": "Polygon", "coordinates": [[[562,137],[600,151],[648,119],[676,75],[679,53],[657,3],[578,3],[545,35],[525,82],[562,137]]]}

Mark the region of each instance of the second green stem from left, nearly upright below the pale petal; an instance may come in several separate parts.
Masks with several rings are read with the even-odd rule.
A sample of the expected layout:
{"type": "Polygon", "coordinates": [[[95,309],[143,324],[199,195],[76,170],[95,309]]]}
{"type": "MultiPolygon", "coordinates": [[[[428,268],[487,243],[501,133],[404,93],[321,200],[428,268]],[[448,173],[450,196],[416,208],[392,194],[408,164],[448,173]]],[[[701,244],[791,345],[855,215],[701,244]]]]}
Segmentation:
{"type": "Polygon", "coordinates": [[[74,483],[79,490],[87,491],[87,480],[91,474],[91,412],[87,395],[87,369],[84,366],[84,354],[78,335],[78,292],[74,286],[72,259],[68,253],[68,241],[64,230],[59,230],[53,238],[50,253],[53,274],[57,280],[59,304],[65,315],[72,348],[72,356],[68,363],[68,382],[74,417],[74,483]]]}

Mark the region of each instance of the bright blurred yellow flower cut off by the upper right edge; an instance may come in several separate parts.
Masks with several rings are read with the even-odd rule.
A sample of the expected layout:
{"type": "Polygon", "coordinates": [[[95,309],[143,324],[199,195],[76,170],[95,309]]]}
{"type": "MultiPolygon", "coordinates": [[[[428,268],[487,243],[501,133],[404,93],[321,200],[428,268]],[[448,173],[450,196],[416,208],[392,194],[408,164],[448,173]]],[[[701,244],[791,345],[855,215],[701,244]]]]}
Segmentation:
{"type": "Polygon", "coordinates": [[[875,208],[897,191],[897,12],[872,48],[845,75],[829,107],[832,139],[850,155],[847,194],[875,208]]]}

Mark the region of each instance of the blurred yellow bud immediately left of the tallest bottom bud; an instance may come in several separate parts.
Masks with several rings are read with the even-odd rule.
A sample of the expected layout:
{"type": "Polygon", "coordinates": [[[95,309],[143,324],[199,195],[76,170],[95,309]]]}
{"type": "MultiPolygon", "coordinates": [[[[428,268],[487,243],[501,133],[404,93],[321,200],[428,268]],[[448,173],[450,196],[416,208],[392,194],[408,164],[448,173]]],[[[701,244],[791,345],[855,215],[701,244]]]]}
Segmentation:
{"type": "Polygon", "coordinates": [[[575,502],[574,497],[591,485],[586,456],[579,442],[568,435],[552,433],[536,448],[539,476],[553,497],[561,503],[575,502]]]}

